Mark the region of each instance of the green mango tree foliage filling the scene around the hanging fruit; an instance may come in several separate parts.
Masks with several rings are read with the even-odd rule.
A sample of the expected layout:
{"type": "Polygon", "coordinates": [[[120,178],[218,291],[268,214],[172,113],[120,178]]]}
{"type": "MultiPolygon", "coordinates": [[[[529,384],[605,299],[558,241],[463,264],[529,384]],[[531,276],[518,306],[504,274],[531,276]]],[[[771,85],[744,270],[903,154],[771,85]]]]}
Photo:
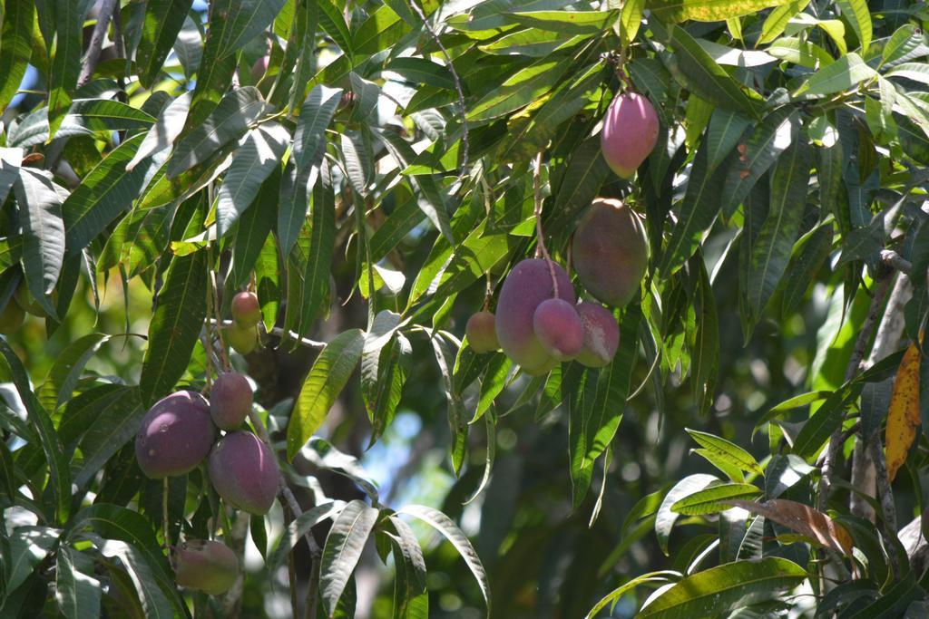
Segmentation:
{"type": "Polygon", "coordinates": [[[929,316],[924,3],[0,6],[0,305],[21,279],[47,314],[0,343],[3,616],[924,616],[922,432],[876,516],[849,482],[929,316]],[[661,135],[626,182],[598,123],[630,87],[661,135]],[[595,197],[645,216],[608,368],[461,341],[536,194],[561,264],[595,197]],[[283,504],[137,471],[246,286],[265,345],[232,365],[320,553],[283,504]],[[164,550],[211,533],[247,560],[224,598],[164,550]]]}

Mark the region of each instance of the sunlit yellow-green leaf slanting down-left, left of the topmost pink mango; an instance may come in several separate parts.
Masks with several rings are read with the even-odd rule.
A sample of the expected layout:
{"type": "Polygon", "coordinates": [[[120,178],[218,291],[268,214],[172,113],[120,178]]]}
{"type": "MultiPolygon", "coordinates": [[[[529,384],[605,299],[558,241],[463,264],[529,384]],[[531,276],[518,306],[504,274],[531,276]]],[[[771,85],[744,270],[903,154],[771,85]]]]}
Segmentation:
{"type": "Polygon", "coordinates": [[[469,122],[490,121],[519,110],[541,98],[557,84],[571,63],[570,58],[541,58],[517,71],[478,100],[467,112],[469,122]]]}

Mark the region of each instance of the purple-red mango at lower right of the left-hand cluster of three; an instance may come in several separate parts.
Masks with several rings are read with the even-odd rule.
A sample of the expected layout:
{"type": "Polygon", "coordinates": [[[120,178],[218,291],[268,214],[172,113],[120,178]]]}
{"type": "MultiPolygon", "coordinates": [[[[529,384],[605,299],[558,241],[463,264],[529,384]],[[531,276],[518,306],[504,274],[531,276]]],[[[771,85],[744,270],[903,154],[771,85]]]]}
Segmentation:
{"type": "Polygon", "coordinates": [[[230,432],[207,461],[210,482],[229,505],[266,514],[278,494],[278,462],[252,432],[230,432]]]}

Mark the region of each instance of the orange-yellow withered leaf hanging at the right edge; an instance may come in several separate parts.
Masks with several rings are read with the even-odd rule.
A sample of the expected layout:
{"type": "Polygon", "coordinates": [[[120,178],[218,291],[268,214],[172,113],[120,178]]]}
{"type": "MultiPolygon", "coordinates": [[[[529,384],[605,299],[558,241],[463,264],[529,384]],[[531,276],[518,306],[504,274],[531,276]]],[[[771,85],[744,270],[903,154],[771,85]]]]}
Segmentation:
{"type": "Polygon", "coordinates": [[[893,482],[896,471],[907,461],[909,447],[920,430],[920,349],[910,344],[896,370],[894,393],[887,411],[887,478],[893,482]]]}

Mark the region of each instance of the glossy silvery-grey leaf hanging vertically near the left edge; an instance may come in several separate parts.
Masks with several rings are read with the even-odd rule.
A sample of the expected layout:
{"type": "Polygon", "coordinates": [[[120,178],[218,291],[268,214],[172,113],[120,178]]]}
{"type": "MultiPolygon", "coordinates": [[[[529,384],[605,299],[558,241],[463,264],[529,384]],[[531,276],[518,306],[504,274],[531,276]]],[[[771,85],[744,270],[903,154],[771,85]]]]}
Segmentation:
{"type": "Polygon", "coordinates": [[[48,294],[55,289],[64,262],[62,190],[45,170],[22,168],[14,186],[22,226],[22,268],[35,300],[57,316],[48,294]]]}

